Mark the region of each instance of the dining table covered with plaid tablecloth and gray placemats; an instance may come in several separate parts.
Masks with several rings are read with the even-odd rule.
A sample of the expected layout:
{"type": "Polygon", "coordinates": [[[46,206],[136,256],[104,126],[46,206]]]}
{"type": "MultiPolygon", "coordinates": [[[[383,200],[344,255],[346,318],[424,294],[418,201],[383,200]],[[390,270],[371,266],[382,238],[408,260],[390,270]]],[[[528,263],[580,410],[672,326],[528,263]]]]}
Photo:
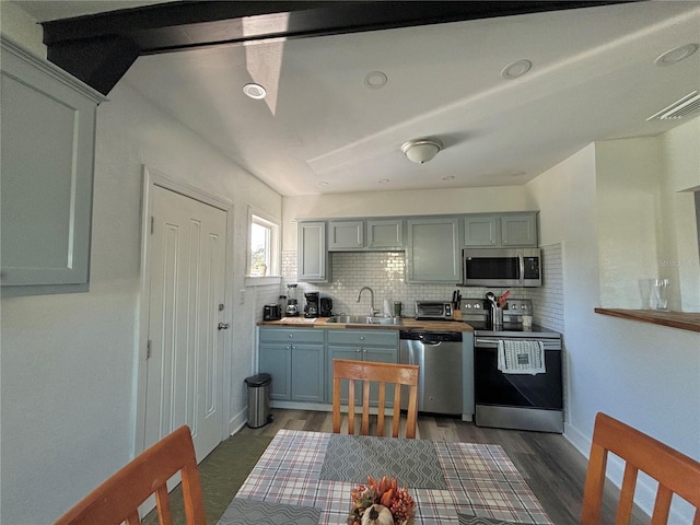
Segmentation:
{"type": "Polygon", "coordinates": [[[551,524],[500,445],[280,430],[219,525],[347,525],[368,476],[407,488],[415,525],[551,524]]]}

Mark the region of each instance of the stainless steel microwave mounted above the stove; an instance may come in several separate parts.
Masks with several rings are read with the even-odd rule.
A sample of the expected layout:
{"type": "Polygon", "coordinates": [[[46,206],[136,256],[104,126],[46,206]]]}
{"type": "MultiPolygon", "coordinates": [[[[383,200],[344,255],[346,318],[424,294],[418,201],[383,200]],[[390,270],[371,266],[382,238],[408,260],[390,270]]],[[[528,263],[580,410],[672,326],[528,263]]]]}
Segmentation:
{"type": "Polygon", "coordinates": [[[541,287],[539,248],[464,248],[462,285],[541,287]]]}

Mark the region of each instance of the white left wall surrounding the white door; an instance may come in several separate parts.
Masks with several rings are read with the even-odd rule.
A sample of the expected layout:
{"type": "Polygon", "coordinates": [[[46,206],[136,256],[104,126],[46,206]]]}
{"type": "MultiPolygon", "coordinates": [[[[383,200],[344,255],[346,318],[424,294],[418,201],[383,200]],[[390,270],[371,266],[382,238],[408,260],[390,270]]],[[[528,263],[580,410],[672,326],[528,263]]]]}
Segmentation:
{"type": "MultiPolygon", "coordinates": [[[[4,5],[3,5],[4,10],[4,5]]],[[[247,205],[281,197],[122,80],[97,112],[89,293],[2,299],[2,523],[51,523],[133,453],[142,164],[234,202],[233,289],[247,205]],[[37,494],[42,494],[37,498],[37,494]]],[[[245,417],[255,291],[230,302],[231,418],[245,417]]]]}

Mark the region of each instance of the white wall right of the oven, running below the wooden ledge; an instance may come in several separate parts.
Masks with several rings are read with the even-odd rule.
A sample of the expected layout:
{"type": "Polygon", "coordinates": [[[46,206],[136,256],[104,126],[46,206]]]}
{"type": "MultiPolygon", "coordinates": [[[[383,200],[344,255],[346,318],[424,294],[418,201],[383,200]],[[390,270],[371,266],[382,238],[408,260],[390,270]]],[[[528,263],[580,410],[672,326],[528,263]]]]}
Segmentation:
{"type": "Polygon", "coordinates": [[[565,435],[587,455],[595,415],[604,411],[700,458],[700,334],[594,313],[597,238],[615,228],[597,213],[596,152],[588,145],[527,185],[540,210],[541,244],[563,244],[565,435]]]}

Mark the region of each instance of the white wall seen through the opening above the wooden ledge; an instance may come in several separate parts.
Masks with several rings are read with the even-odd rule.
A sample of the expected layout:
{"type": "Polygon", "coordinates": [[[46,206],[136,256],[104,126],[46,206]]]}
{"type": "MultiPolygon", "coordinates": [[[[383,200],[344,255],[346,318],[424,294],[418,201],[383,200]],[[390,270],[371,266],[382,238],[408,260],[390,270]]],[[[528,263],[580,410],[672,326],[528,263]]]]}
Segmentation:
{"type": "Polygon", "coordinates": [[[692,189],[700,117],[660,137],[596,143],[600,306],[648,308],[649,279],[669,279],[668,306],[700,312],[692,189]]]}

